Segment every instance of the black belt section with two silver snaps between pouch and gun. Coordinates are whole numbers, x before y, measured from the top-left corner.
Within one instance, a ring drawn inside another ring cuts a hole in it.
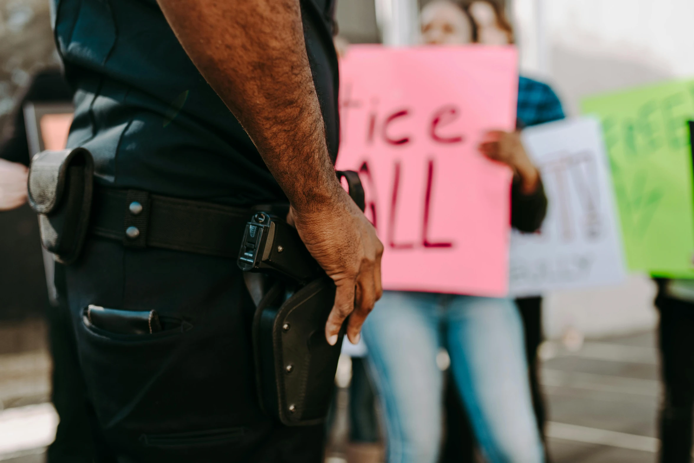
[[[130,248],[237,258],[253,214],[250,209],[94,186],[90,232]]]

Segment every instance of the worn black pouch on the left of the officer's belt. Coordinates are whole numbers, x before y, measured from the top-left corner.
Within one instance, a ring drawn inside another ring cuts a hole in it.
[[[41,242],[56,260],[71,264],[87,235],[94,160],[83,148],[42,151],[31,160],[29,204],[39,214]]]

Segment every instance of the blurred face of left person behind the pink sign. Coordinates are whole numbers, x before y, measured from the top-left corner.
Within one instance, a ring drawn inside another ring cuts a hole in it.
[[[448,0],[428,3],[422,9],[422,40],[425,44],[468,44],[473,27],[463,10]]]

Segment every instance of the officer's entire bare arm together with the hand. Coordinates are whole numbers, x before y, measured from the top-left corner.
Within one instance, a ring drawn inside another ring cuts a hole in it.
[[[299,236],[335,282],[326,339],[335,345],[347,323],[357,342],[382,294],[383,245],[335,177],[299,0],[157,1],[188,56],[255,143],[289,198]]]

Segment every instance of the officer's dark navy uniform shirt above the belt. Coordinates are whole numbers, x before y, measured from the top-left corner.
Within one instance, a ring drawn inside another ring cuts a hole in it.
[[[69,146],[97,181],[230,205],[284,198],[255,146],[176,40],[155,0],[53,0],[58,49],[76,87]],[[306,48],[337,155],[334,0],[302,0]]]

